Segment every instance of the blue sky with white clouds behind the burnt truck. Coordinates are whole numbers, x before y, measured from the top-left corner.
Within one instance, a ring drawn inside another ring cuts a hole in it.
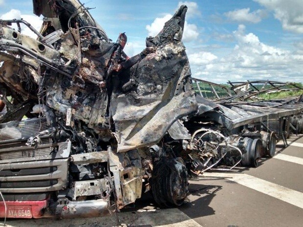
[[[188,6],[183,41],[193,77],[224,83],[303,83],[303,0],[82,0],[115,41],[126,32],[130,56],[145,47],[181,4]],[[18,11],[19,10],[19,11]],[[32,0],[0,0],[0,18],[32,16]]]

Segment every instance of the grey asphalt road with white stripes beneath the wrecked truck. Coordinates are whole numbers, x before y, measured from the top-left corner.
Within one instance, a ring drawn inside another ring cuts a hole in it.
[[[102,218],[8,220],[11,227],[301,227],[303,226],[303,136],[278,145],[258,168],[205,173],[191,181],[189,202],[159,209],[149,196],[118,215]],[[0,226],[3,226],[3,220]]]

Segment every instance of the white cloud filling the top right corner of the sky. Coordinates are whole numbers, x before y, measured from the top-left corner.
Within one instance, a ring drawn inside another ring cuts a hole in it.
[[[303,33],[303,0],[254,0],[274,12],[284,30]]]

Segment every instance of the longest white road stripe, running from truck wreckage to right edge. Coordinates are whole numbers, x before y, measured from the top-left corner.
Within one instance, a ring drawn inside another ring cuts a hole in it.
[[[227,178],[230,181],[234,181],[240,185],[252,188],[256,191],[272,196],[286,203],[292,204],[303,208],[303,193],[292,190],[287,187],[276,185],[274,183],[262,180],[257,177],[250,176],[245,173],[203,173],[204,178]]]

